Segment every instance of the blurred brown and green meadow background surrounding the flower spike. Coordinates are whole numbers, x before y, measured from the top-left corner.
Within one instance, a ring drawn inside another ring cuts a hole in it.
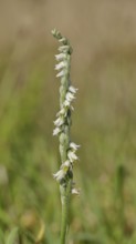
[[[136,2],[0,0],[0,243],[57,244],[57,28],[74,49],[69,244],[136,243]]]

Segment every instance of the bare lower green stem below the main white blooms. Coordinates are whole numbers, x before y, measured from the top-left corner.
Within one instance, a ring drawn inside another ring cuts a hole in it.
[[[62,200],[61,244],[65,244],[69,228],[70,197],[72,180],[69,180],[66,187],[60,186]]]

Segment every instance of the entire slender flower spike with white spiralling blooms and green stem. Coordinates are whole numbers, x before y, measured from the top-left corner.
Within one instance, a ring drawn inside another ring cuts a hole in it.
[[[62,230],[61,230],[61,244],[65,243],[66,230],[69,225],[69,205],[71,194],[79,194],[79,190],[74,187],[73,182],[73,165],[79,160],[76,151],[80,145],[71,141],[71,112],[74,110],[72,102],[75,99],[77,89],[71,84],[71,54],[72,48],[66,38],[55,29],[52,31],[54,38],[59,40],[59,54],[55,55],[57,64],[56,78],[60,78],[60,111],[56,113],[54,121],[55,129],[53,135],[59,136],[60,141],[60,155],[61,166],[56,173],[53,174],[54,179],[60,183],[61,202],[62,202]]]

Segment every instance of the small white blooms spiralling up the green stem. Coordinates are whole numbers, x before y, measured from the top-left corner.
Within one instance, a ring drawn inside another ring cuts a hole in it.
[[[62,43],[62,45],[59,48],[60,53],[55,55],[55,59],[59,62],[55,65],[55,70],[59,71],[56,78],[61,78],[61,81],[65,81],[66,79],[69,79],[70,73],[70,45],[67,44],[67,40],[65,38],[61,38],[59,41]],[[76,91],[77,89],[72,85],[67,85],[66,90],[64,89],[64,99],[61,103],[60,111],[56,113],[56,120],[54,121],[55,129],[53,130],[53,135],[60,135],[61,133],[64,133],[64,126],[67,121],[69,111],[73,110],[72,101],[75,99]],[[55,174],[53,174],[54,179],[56,179],[56,181],[59,181],[60,183],[65,181],[67,172],[72,172],[74,161],[79,160],[76,155],[76,150],[79,148],[80,145],[76,145],[74,142],[70,142],[66,153],[66,161],[63,162],[60,170]],[[73,187],[72,193],[79,194],[79,191]]]

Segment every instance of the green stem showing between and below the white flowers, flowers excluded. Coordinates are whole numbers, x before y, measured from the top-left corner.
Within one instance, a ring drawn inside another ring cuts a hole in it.
[[[67,73],[62,79],[61,92],[60,92],[60,108],[63,106],[66,91],[70,87],[70,62],[71,55],[67,54]],[[62,163],[67,160],[67,149],[70,144],[70,129],[71,129],[71,112],[69,110],[65,119],[64,132],[60,135],[60,154]],[[69,230],[69,212],[70,212],[70,197],[72,190],[72,180],[67,177],[65,184],[60,185],[61,202],[62,202],[62,220],[61,220],[61,244],[65,244],[66,234]]]

